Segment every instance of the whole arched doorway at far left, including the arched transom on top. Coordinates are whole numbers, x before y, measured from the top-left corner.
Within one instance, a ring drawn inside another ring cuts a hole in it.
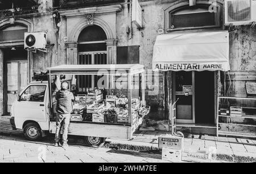
[[[11,24],[0,30],[0,44],[3,54],[3,114],[10,114],[16,95],[28,83],[27,51],[23,48],[24,32],[28,28],[22,24]]]

